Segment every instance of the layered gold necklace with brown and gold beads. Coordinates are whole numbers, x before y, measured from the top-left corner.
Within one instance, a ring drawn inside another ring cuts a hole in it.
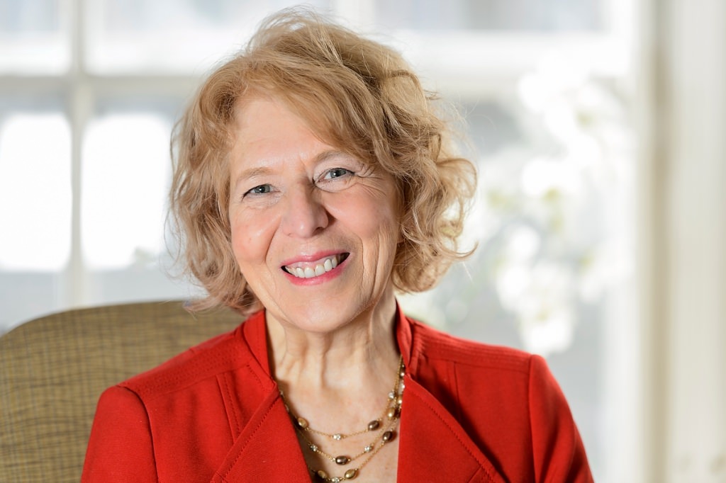
[[[343,476],[328,476],[328,474],[322,470],[322,469],[314,469],[308,466],[308,469],[311,471],[311,474],[323,482],[331,482],[331,483],[340,483],[343,482],[343,480],[346,479],[354,479],[356,476],[358,476],[359,471],[363,466],[365,466],[377,453],[380,451],[381,448],[383,448],[384,445],[386,445],[387,442],[390,442],[393,440],[393,438],[396,437],[396,426],[399,424],[399,417],[401,416],[401,403],[403,402],[403,395],[404,395],[404,373],[406,371],[406,368],[404,366],[403,358],[399,359],[399,371],[396,373],[396,384],[393,385],[393,390],[388,393],[388,400],[386,401],[386,409],[383,410],[383,413],[378,419],[374,419],[373,421],[370,421],[370,423],[367,424],[365,429],[361,429],[360,431],[352,432],[352,433],[326,433],[319,431],[317,429],[313,429],[310,427],[310,424],[305,418],[302,418],[300,416],[295,416],[293,412],[290,410],[290,406],[287,405],[287,401],[285,400],[285,395],[282,394],[282,389],[280,389],[280,395],[282,396],[283,402],[285,402],[285,409],[287,410],[287,413],[290,414],[290,418],[293,419],[293,426],[295,426],[295,429],[297,429],[298,434],[300,434],[301,438],[306,442],[306,447],[308,450],[311,451],[311,453],[314,453],[316,455],[319,455],[322,458],[325,458],[327,460],[333,461],[333,463],[338,464],[340,466],[346,466],[347,464],[356,461],[359,458],[362,458],[362,456],[367,455],[367,458],[364,458],[364,460],[361,461],[361,463],[356,466],[355,468],[349,468]],[[365,445],[363,449],[360,451],[360,453],[357,453],[353,456],[348,455],[338,455],[333,456],[330,453],[326,453],[324,450],[322,450],[318,445],[316,445],[314,442],[311,442],[309,437],[306,436],[306,433],[312,433],[317,434],[322,437],[326,437],[329,439],[332,439],[333,441],[337,442],[342,439],[346,439],[349,437],[358,436],[359,434],[365,434],[365,433],[375,433],[375,439],[373,439],[369,444]]]

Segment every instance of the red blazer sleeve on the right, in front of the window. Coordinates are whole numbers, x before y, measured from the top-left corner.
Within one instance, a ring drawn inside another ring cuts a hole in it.
[[[582,439],[570,408],[544,359],[533,355],[529,414],[537,482],[592,483]]]

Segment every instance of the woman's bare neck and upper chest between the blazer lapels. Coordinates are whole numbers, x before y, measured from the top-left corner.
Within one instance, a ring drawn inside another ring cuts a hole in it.
[[[336,321],[332,325],[335,329],[326,332],[305,331],[293,321],[281,321],[271,315],[266,313],[272,375],[285,395],[288,411],[295,418],[303,418],[306,427],[317,430],[315,434],[298,431],[306,463],[314,471],[342,476],[340,466],[320,457],[314,453],[316,450],[311,452],[310,445],[331,455],[357,458],[356,455],[363,454],[359,453],[362,447],[372,443],[370,433],[361,433],[371,421],[380,419],[380,424],[386,425],[378,430],[380,434],[375,438],[383,438],[383,432],[390,434],[396,430],[398,421],[386,417],[391,407],[388,393],[398,389],[396,381],[401,369],[393,327],[396,321],[393,289],[384,291],[375,307],[364,310],[352,321]],[[351,437],[333,442],[321,434]],[[359,466],[350,468],[365,466],[370,475],[367,477],[372,478],[366,481],[381,481],[384,476],[388,481],[396,474],[398,440],[393,439],[386,446],[393,449],[381,450],[375,464],[367,466],[367,461],[376,454],[371,453],[356,463]],[[345,470],[346,475],[353,471],[350,468]]]

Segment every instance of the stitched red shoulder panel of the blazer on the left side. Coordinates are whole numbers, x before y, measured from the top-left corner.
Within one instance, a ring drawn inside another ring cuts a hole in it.
[[[243,324],[242,324],[243,325]],[[242,337],[242,326],[195,345],[159,366],[123,381],[139,397],[168,394],[197,381],[233,371],[248,363],[251,351]]]

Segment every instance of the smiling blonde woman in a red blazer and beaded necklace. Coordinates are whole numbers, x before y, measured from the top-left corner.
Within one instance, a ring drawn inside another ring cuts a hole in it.
[[[399,54],[282,12],[176,136],[187,265],[247,320],[99,400],[86,482],[589,482],[541,358],[441,334],[395,293],[457,249],[475,174]]]

